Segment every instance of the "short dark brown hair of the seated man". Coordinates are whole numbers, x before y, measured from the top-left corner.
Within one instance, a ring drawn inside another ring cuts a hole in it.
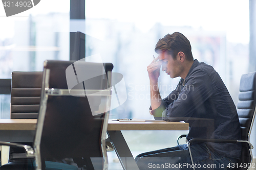
[[[155,52],[167,52],[169,55],[173,56],[174,60],[176,60],[176,56],[179,52],[183,52],[188,61],[194,60],[189,40],[179,32],[167,34],[159,39],[155,47]]]

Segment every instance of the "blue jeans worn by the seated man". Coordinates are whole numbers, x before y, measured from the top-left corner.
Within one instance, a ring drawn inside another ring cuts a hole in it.
[[[190,146],[194,165],[191,163],[187,144],[139,154],[135,161],[140,170],[144,169],[231,169],[235,158],[219,155],[209,150],[205,143]]]

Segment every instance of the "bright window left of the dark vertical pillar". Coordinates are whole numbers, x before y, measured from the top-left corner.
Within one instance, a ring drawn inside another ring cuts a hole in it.
[[[69,60],[69,0],[44,0],[6,17],[0,5],[0,79],[12,71],[42,71],[47,59]],[[0,95],[0,118],[10,118],[10,95]]]

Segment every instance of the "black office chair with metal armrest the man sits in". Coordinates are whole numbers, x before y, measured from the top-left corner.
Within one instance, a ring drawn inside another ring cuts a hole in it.
[[[244,74],[240,80],[240,92],[239,92],[239,102],[237,105],[237,112],[239,116],[239,122],[242,131],[241,140],[221,140],[221,139],[190,139],[188,141],[188,149],[191,158],[191,162],[194,164],[193,157],[190,151],[190,145],[195,142],[217,142],[217,143],[237,143],[242,142],[242,153],[241,161],[238,163],[238,168],[248,169],[249,165],[252,166],[252,144],[250,143],[250,134],[252,130],[252,125],[254,122],[256,110],[256,72],[250,72]],[[178,137],[182,138],[185,135]],[[241,164],[245,163],[245,164]],[[240,167],[240,165],[242,165]],[[246,165],[246,166],[245,166]]]

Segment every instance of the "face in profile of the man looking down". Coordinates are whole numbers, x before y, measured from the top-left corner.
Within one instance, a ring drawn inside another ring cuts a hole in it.
[[[182,66],[179,62],[179,56],[176,56],[174,60],[173,56],[166,51],[159,53],[159,61],[162,62],[162,70],[166,72],[170,78],[180,77],[182,72]]]

